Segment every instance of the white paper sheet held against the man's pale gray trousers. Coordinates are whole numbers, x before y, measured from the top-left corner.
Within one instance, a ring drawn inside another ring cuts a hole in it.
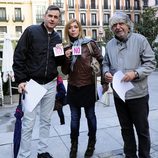
[[[26,91],[27,93],[25,93],[25,99],[23,100],[22,104],[25,110],[32,112],[47,90],[31,79],[26,84]]]

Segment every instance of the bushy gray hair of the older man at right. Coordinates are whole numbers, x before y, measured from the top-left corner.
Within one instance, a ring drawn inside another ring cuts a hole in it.
[[[109,28],[111,30],[112,26],[117,23],[125,23],[129,26],[129,29],[132,28],[132,22],[129,16],[123,12],[115,12],[113,16],[109,19]]]

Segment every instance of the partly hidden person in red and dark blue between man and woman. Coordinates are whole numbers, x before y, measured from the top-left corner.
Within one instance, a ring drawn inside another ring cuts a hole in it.
[[[66,105],[66,89],[63,84],[63,79],[60,75],[57,77],[57,86],[56,86],[56,96],[55,96],[55,106],[54,110],[57,110],[58,116],[60,118],[60,124],[65,124],[65,117],[63,112],[63,106]]]

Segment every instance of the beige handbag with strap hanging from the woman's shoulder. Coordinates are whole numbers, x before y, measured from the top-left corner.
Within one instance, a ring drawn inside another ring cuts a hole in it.
[[[94,51],[92,49],[92,46],[90,43],[87,44],[88,46],[88,49],[91,53],[91,55],[94,54]],[[96,76],[100,76],[101,75],[101,70],[100,70],[100,64],[98,62],[98,60],[92,56],[92,60],[91,60],[91,68],[93,69],[93,74],[96,75]]]

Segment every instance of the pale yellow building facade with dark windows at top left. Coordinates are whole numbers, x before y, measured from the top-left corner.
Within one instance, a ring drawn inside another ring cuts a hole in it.
[[[32,24],[32,9],[29,0],[0,0],[0,37],[9,33],[18,39],[24,29]]]

